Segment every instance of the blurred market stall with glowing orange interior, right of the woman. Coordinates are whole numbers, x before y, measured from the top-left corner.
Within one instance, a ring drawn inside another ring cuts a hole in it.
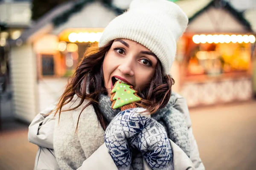
[[[244,15],[222,0],[177,4],[189,17],[172,70],[177,91],[190,107],[251,99],[255,35]]]

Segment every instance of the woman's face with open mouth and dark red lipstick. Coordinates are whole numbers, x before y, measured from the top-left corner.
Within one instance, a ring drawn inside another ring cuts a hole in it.
[[[123,81],[143,91],[155,73],[158,59],[148,48],[127,39],[116,39],[103,61],[105,88],[111,96],[116,81]],[[119,80],[116,80],[119,79]]]

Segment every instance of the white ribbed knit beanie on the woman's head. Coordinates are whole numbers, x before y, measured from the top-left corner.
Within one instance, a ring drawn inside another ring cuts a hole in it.
[[[125,13],[114,18],[103,31],[99,47],[124,38],[144,45],[160,60],[169,74],[176,55],[176,42],[188,24],[188,17],[168,0],[133,0]]]

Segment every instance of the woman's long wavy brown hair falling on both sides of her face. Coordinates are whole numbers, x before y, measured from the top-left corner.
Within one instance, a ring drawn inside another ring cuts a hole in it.
[[[65,91],[61,95],[55,108],[55,115],[59,113],[59,119],[63,106],[71,102],[76,94],[81,99],[79,105],[64,111],[75,110],[82,105],[84,100],[87,100],[88,103],[81,110],[79,118],[82,111],[84,111],[87,106],[93,105],[100,125],[104,130],[106,129],[108,122],[99,110],[99,95],[101,93],[105,95],[108,94],[104,85],[102,65],[105,54],[111,48],[112,43],[113,41],[103,47],[98,47],[98,43],[93,43],[87,48],[84,58],[77,66],[73,77],[71,77],[71,81],[66,85]],[[136,102],[136,104],[146,108],[150,114],[156,112],[160,108],[164,108],[170,99],[174,82],[174,79],[169,75],[163,74],[161,63],[158,62],[154,77],[145,85],[143,91],[138,91],[137,94],[142,97],[142,100]],[[89,91],[89,93],[87,93],[87,91]],[[79,119],[76,125],[76,130],[78,128],[78,123]]]

